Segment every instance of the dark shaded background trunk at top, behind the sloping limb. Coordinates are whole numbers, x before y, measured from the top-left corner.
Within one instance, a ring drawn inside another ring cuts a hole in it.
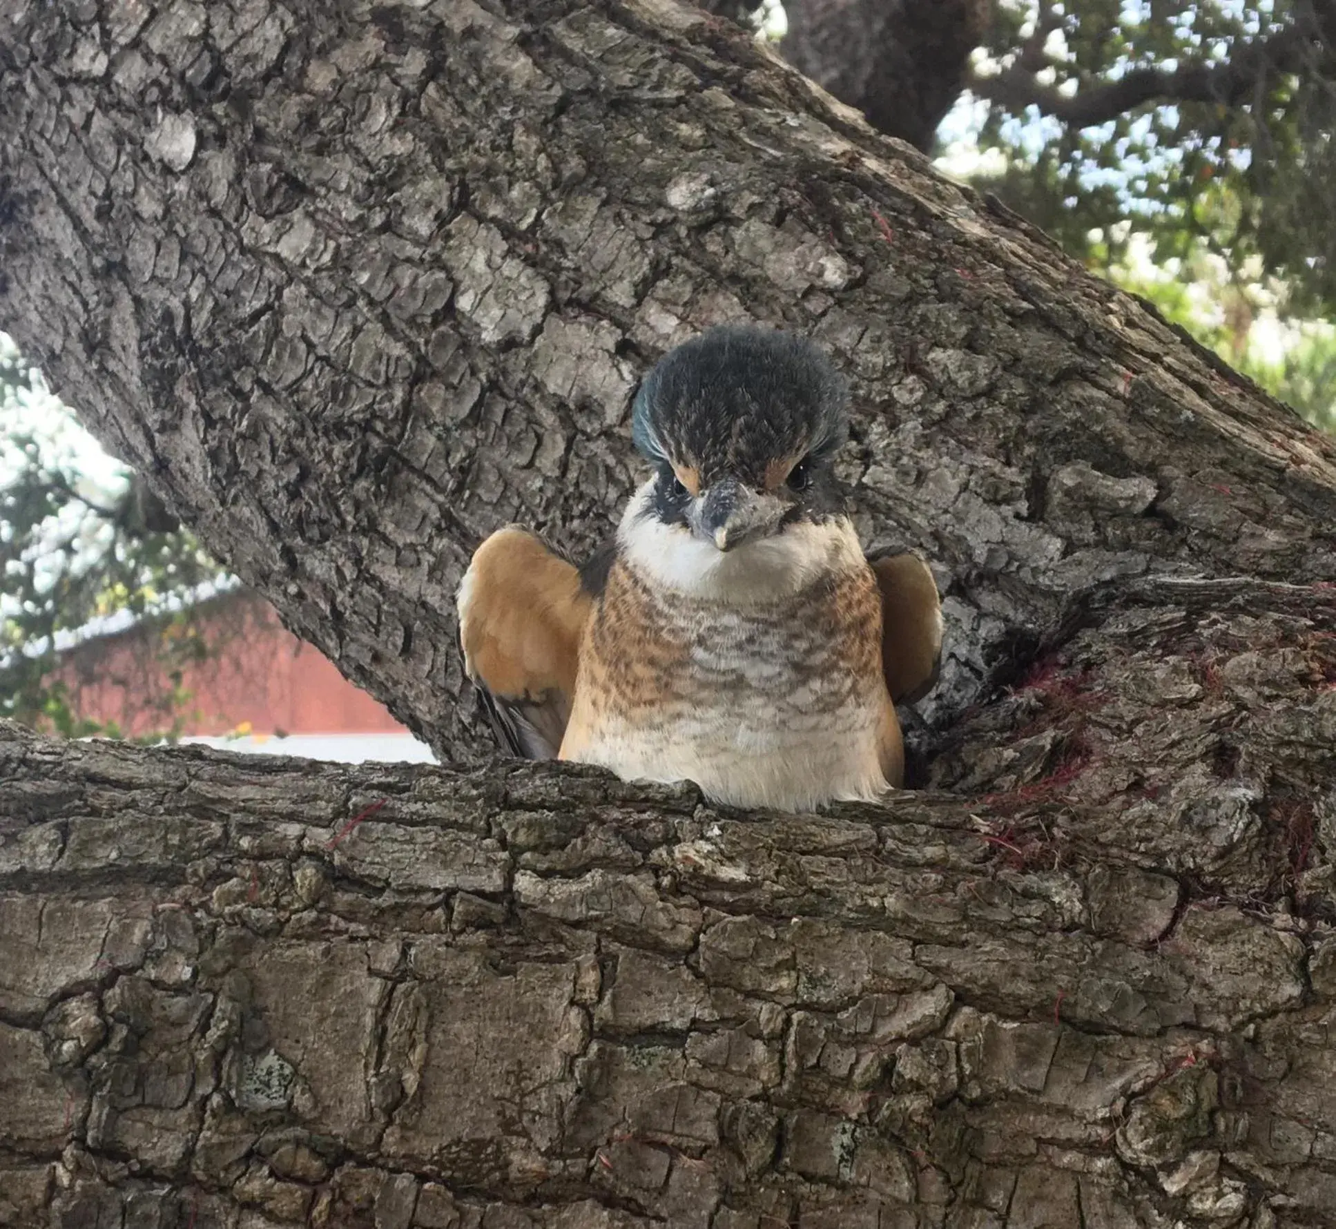
[[[784,59],[874,128],[930,150],[993,0],[787,0]]]

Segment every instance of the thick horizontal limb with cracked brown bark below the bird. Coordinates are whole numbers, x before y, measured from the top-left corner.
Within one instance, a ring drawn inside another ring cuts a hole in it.
[[[1333,795],[1296,791],[1289,828],[1252,811],[1263,775],[1329,747],[1336,693],[1291,649],[1214,657],[1259,609],[1315,665],[1336,651],[1297,613],[1312,590],[1132,601],[1121,639],[1078,648],[1121,655],[1121,683],[1077,660],[1015,700],[1086,713],[1086,785],[1136,737],[1169,776],[1130,811],[1043,783],[1051,729],[971,808],[802,818],[595,771],[0,724],[0,1217],[851,1226],[1010,1202],[1205,1225],[1272,1201],[1336,1224],[1315,1145],[1336,1054],[1308,1039],[1336,1018],[1336,940],[1259,912],[1287,858],[1283,891],[1329,891]],[[1208,631],[1232,601],[1249,613]],[[1210,721],[1241,756],[1194,781]]]

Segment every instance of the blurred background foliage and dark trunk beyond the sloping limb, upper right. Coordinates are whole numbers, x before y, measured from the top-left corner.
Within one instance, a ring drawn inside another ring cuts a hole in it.
[[[1336,429],[1336,0],[787,0],[784,25],[875,127]]]

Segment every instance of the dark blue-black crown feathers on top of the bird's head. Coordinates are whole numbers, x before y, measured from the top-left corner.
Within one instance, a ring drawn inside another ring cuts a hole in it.
[[[721,325],[645,377],[632,435],[649,461],[692,466],[705,484],[725,472],[760,481],[776,458],[834,453],[847,407],[843,377],[806,337]]]

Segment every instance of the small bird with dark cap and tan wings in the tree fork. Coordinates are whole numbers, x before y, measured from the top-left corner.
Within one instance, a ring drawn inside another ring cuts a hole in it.
[[[649,477],[576,565],[518,525],[457,593],[465,671],[506,748],[790,812],[902,788],[896,703],[937,681],[941,598],[868,557],[835,457],[848,385],[808,338],[708,329],[632,405]]]

